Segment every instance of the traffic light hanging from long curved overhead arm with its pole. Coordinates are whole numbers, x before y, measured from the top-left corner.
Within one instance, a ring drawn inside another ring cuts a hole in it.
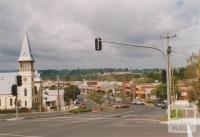
[[[167,38],[170,38],[169,36]],[[166,65],[166,77],[167,77],[167,103],[168,103],[168,120],[170,120],[170,86],[171,86],[171,69],[170,69],[170,54],[171,54],[171,47],[169,46],[169,44],[167,44],[167,51],[166,53],[164,51],[162,51],[159,48],[156,47],[152,47],[152,46],[144,46],[144,45],[138,45],[138,44],[130,44],[130,43],[122,43],[122,42],[113,42],[113,41],[107,41],[107,40],[102,40],[101,38],[96,38],[95,39],[95,49],[96,51],[100,51],[102,50],[102,42],[104,43],[111,43],[111,44],[117,44],[117,45],[125,45],[125,46],[131,46],[131,47],[138,47],[138,48],[146,48],[146,49],[152,49],[152,50],[156,50],[159,53],[161,53],[161,55],[164,58],[165,61],[165,65]]]

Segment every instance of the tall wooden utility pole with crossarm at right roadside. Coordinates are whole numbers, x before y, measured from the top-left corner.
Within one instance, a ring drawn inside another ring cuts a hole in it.
[[[166,61],[167,61],[167,103],[168,103],[168,120],[171,119],[171,103],[172,103],[172,69],[171,69],[171,46],[169,44],[170,39],[176,37],[176,35],[169,35],[167,32],[166,36],[160,36],[160,38],[164,38],[167,40],[167,53],[166,53]]]

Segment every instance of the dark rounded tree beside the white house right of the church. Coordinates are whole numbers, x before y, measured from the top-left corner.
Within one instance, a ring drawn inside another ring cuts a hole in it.
[[[77,96],[80,95],[80,89],[75,85],[70,85],[64,88],[64,101],[68,103],[70,99],[73,101],[77,99]]]

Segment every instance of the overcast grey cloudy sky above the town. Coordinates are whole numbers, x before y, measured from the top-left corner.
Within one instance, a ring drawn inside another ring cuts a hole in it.
[[[166,50],[172,64],[187,65],[200,49],[199,0],[0,0],[0,70],[17,69],[25,33],[36,69],[163,68],[153,50],[103,43],[94,39],[148,45]]]

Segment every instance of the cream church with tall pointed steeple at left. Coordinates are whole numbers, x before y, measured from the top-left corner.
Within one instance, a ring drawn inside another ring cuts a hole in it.
[[[0,73],[0,109],[15,109],[16,97],[11,95],[11,86],[16,84],[16,76],[22,76],[22,86],[18,87],[19,107],[42,107],[42,80],[34,68],[28,34],[25,35],[18,59],[19,72]]]

